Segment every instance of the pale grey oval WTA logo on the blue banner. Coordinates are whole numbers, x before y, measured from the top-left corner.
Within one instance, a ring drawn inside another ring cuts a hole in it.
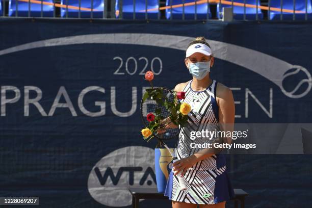
[[[156,188],[154,149],[127,146],[101,158],[88,178],[88,191],[107,206],[128,206],[132,196],[128,187]]]

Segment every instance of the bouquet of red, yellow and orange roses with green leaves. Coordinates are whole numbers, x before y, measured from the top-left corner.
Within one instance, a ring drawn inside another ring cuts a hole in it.
[[[188,119],[188,113],[191,111],[191,106],[185,102],[179,102],[178,100],[185,98],[185,92],[173,92],[174,98],[169,100],[166,95],[164,95],[163,88],[153,88],[152,80],[154,79],[154,74],[152,71],[147,71],[145,73],[145,80],[149,81],[151,88],[146,89],[143,95],[142,102],[147,98],[154,100],[158,106],[163,106],[169,112],[169,116],[164,118],[162,116],[162,111],[160,108],[156,108],[154,112],[147,113],[146,120],[148,125],[143,128],[141,133],[144,140],[149,141],[153,138],[153,135],[159,133],[159,131],[164,130],[165,126],[172,122],[174,125],[185,126]]]

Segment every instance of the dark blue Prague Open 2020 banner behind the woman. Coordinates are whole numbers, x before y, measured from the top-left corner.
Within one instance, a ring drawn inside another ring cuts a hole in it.
[[[216,57],[212,79],[232,89],[237,123],[311,122],[311,22],[0,24],[2,197],[36,196],[42,207],[123,207],[132,199],[126,187],[156,187],[155,141],[141,136],[144,73],[152,70],[153,84],[169,89],[191,80],[185,50],[197,36]],[[234,187],[250,194],[247,207],[307,206],[309,155],[229,160]]]

